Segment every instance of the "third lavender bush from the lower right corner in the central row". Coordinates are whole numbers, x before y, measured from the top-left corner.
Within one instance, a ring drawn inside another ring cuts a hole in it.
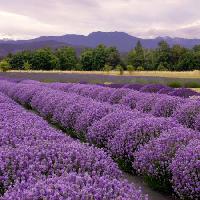
[[[166,118],[145,117],[129,120],[113,134],[113,138],[108,141],[108,147],[115,158],[133,161],[133,154],[139,146],[175,126],[176,123]]]

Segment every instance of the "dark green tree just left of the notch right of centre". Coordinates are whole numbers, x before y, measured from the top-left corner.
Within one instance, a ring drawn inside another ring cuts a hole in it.
[[[120,54],[116,47],[109,47],[106,49],[106,64],[115,67],[120,64]]]

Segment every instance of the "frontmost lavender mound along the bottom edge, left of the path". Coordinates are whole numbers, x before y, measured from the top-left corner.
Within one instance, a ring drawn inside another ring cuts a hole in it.
[[[140,189],[125,181],[109,179],[106,176],[69,173],[38,182],[32,180],[17,184],[2,200],[27,199],[95,199],[95,200],[148,200]]]

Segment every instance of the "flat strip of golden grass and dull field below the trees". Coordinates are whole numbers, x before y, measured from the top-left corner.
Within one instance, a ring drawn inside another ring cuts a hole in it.
[[[159,72],[135,71],[130,75],[125,72],[84,72],[84,71],[10,71],[0,72],[0,76],[21,79],[33,79],[43,82],[88,82],[88,83],[157,83],[172,87],[200,88],[200,72]]]

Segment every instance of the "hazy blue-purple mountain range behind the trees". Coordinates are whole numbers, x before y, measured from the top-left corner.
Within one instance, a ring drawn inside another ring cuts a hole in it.
[[[41,36],[30,40],[0,40],[0,57],[8,53],[16,53],[23,50],[35,50],[43,47],[52,49],[62,46],[72,46],[77,54],[84,48],[94,48],[99,44],[106,46],[115,46],[121,53],[126,53],[133,49],[140,40],[145,48],[156,48],[161,40],[168,42],[170,46],[179,44],[181,46],[192,48],[200,44],[200,39],[185,39],[171,37],[157,37],[154,39],[143,39],[131,36],[125,32],[93,32],[89,35],[67,34],[63,36]]]

